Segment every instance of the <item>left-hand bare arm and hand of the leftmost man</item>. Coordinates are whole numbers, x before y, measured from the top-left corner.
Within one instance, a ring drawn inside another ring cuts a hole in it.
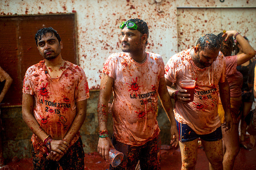
[[[37,136],[39,139],[44,141],[44,139],[48,136],[47,133],[42,130],[42,128],[37,123],[36,119],[33,115],[34,109],[34,96],[30,94],[23,93],[22,95],[22,118],[25,123],[28,125],[29,129]],[[63,140],[52,140],[50,143],[51,150],[56,151],[59,154],[63,155],[68,150],[68,144],[64,144]],[[50,148],[50,146],[47,146]],[[55,161],[55,160],[54,160]]]

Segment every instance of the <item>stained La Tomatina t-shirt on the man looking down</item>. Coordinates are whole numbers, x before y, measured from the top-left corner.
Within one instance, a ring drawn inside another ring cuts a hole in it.
[[[212,133],[220,127],[218,115],[219,82],[225,82],[226,63],[220,52],[211,66],[198,68],[187,49],[172,56],[165,65],[165,78],[181,89],[181,80],[196,80],[194,101],[188,104],[176,102],[175,119],[187,124],[197,134]]]

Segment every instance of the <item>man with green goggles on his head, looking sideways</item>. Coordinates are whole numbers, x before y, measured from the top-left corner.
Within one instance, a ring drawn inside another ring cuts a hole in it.
[[[171,122],[171,144],[178,145],[178,130],[165,84],[164,62],[159,54],[146,52],[148,27],[141,19],[129,19],[122,29],[122,53],[109,56],[103,67],[98,100],[100,139],[98,152],[106,160],[109,147],[124,154],[110,169],[160,169],[160,136],[156,120],[158,95]],[[108,137],[109,96],[114,92],[114,132]]]

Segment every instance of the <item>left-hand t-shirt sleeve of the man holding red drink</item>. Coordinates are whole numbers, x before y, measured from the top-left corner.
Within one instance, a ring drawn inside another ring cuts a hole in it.
[[[176,83],[178,70],[177,70],[177,64],[174,64],[173,59],[174,59],[173,57],[169,59],[169,61],[165,65],[165,78],[171,81],[172,83]]]

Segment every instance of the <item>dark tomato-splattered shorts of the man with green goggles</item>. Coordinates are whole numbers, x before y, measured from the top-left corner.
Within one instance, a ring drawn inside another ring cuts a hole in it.
[[[141,170],[160,170],[160,135],[141,146],[127,145],[118,142],[115,136],[112,137],[112,143],[117,151],[124,154],[124,159],[117,167],[109,166],[109,170],[134,170],[140,160]]]

